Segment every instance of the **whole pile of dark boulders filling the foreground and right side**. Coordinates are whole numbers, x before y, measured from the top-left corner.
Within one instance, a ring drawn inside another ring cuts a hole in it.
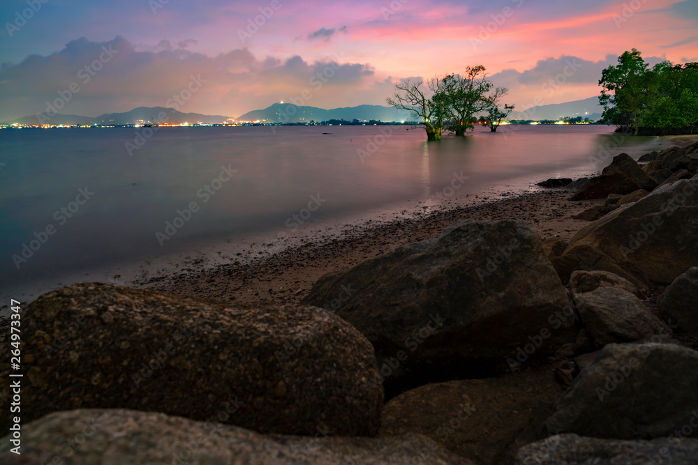
[[[299,305],[40,296],[1,463],[696,464],[698,144],[641,160],[547,183],[606,199],[569,243],[460,221]]]

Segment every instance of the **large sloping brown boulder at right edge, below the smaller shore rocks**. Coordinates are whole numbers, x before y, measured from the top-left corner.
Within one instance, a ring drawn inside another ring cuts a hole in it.
[[[557,261],[610,271],[638,287],[668,285],[698,264],[696,237],[698,176],[664,185],[581,228]]]

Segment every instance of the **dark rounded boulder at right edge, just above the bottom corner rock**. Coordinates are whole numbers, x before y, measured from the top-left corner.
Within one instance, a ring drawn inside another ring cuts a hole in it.
[[[652,439],[698,422],[698,351],[674,344],[609,344],[555,405],[551,433]],[[698,427],[685,436],[698,436]]]

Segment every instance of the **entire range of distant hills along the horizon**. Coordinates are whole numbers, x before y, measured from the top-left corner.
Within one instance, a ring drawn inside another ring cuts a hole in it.
[[[550,105],[538,105],[523,112],[512,112],[508,119],[559,119],[564,116],[582,116],[592,120],[600,119],[603,108],[600,107],[598,98],[591,97],[573,102],[555,103]],[[167,116],[161,119],[161,113]],[[130,112],[105,113],[95,118],[73,114],[43,114],[42,123],[59,125],[73,124],[134,124],[141,120],[154,123],[223,123],[230,120],[230,116],[206,115],[200,113],[182,113],[173,108],[165,107],[138,107]],[[274,103],[265,109],[257,109],[239,116],[237,121],[273,121],[276,123],[309,123],[310,121],[328,121],[330,119],[379,120],[379,121],[414,121],[415,117],[405,110],[380,105],[359,105],[357,107],[343,107],[324,109],[318,107],[297,106],[288,103]],[[38,124],[38,115],[24,116],[23,118],[6,121],[3,124]]]

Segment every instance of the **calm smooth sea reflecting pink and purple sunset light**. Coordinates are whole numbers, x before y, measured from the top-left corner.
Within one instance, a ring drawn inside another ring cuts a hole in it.
[[[671,144],[600,125],[477,128],[427,144],[407,128],[159,128],[138,141],[134,128],[0,130],[2,305],[96,270],[528,188]]]

